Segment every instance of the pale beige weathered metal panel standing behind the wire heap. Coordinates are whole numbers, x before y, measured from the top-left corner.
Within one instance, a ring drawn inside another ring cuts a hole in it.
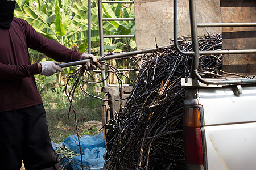
[[[220,23],[220,0],[195,0],[198,23]],[[137,49],[166,45],[174,37],[173,0],[135,0]],[[199,35],[221,33],[221,28],[199,28]],[[178,1],[178,36],[191,35],[188,0]]]

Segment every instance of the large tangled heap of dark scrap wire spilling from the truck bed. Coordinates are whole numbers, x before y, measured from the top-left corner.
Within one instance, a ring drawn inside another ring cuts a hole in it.
[[[179,47],[192,50],[190,37]],[[221,35],[199,39],[200,50],[221,50]],[[174,46],[144,56],[125,107],[113,118],[114,137],[106,141],[108,169],[179,169],[184,163],[183,101],[180,78],[189,76],[192,57]],[[221,76],[222,56],[200,56],[202,76]]]

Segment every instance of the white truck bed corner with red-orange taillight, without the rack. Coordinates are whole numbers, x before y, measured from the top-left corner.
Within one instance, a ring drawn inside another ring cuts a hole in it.
[[[256,169],[256,85],[188,88],[187,169]]]

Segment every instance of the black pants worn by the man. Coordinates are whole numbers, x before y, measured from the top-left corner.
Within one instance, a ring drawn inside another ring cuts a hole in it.
[[[43,104],[0,112],[0,169],[60,169]]]

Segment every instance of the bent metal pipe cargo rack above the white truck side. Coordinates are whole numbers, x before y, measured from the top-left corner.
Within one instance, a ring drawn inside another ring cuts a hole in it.
[[[177,40],[177,0],[174,0],[174,46],[177,52],[193,56],[191,76],[192,79],[197,79],[204,84],[216,84],[216,85],[229,85],[229,84],[247,84],[256,83],[256,79],[249,78],[237,78],[237,79],[205,79],[200,76],[197,69],[199,66],[199,56],[201,54],[249,54],[256,53],[256,49],[241,49],[241,50],[220,50],[220,51],[200,51],[198,44],[197,28],[199,27],[255,27],[256,23],[197,23],[196,20],[196,3],[195,0],[189,0],[189,15],[191,24],[191,38],[192,38],[192,51],[185,52],[178,46]]]

